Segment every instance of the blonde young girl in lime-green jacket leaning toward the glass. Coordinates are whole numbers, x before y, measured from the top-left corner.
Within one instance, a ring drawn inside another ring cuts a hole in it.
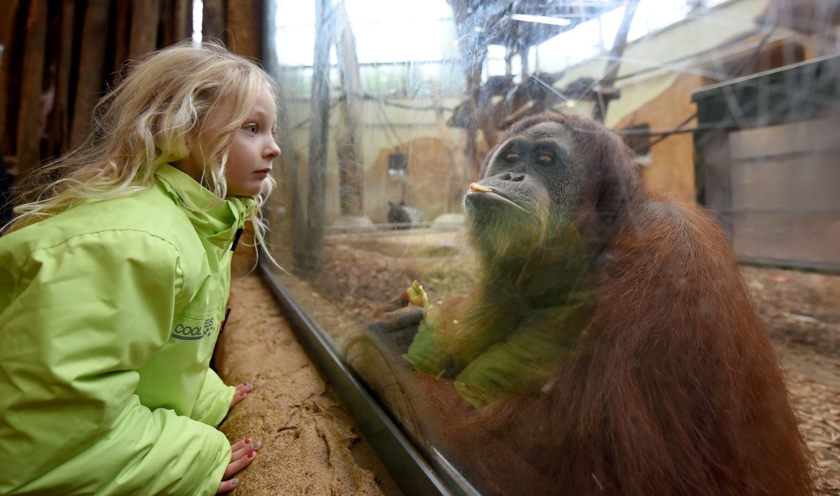
[[[252,386],[207,368],[243,223],[274,183],[269,77],[181,44],[98,103],[0,238],[0,493],[230,491]]]

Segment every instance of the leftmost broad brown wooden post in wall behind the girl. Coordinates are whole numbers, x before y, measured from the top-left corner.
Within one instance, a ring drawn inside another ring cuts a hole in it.
[[[32,0],[26,19],[24,71],[21,75],[18,114],[18,173],[25,173],[40,159],[41,87],[47,39],[47,2]]]

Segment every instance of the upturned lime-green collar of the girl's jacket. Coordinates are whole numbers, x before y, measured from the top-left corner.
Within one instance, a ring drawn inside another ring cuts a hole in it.
[[[243,227],[256,203],[249,196],[223,200],[170,164],[161,164],[155,176],[164,190],[185,206],[186,217],[198,234],[220,247],[233,241],[236,230]]]

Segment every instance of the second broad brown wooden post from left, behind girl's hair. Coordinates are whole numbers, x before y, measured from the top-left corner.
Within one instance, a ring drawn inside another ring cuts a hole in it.
[[[85,24],[81,30],[79,79],[73,105],[70,148],[74,149],[87,134],[91,113],[105,84],[105,44],[108,43],[110,2],[88,2]]]

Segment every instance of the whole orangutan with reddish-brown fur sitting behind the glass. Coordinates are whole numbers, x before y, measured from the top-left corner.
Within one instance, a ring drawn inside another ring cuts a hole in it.
[[[410,343],[396,351],[424,436],[470,482],[811,494],[780,364],[706,212],[645,191],[621,139],[581,117],[515,123],[481,176],[465,196],[475,289],[372,327]]]

